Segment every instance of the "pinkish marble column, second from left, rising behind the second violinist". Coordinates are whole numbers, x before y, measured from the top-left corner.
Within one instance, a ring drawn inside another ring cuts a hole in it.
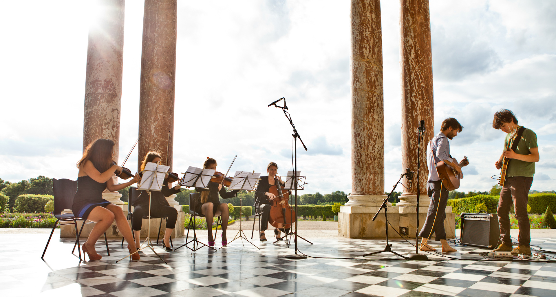
[[[145,0],[141,90],[139,95],[139,166],[148,151],[162,153],[172,166],[176,87],[177,0]],[[171,169],[170,169],[171,170]]]

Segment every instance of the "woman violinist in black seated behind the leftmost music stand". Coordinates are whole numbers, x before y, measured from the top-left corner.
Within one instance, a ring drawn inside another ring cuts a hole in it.
[[[145,170],[145,166],[149,162],[157,163],[162,159],[162,154],[156,151],[147,152],[143,162],[141,163],[141,171]],[[177,210],[168,204],[166,197],[180,192],[179,185],[172,187],[171,183],[168,182],[168,178],[165,177],[162,182],[162,191],[152,191],[151,192],[151,215],[157,217],[166,217],[166,231],[164,232],[164,239],[162,240],[163,246],[167,251],[172,251],[170,247],[170,236],[172,231],[176,226],[177,220]],[[135,245],[137,248],[140,246],[140,235],[141,235],[141,224],[143,222],[143,217],[148,216],[148,193],[142,190],[141,194],[136,200],[131,201],[133,208],[132,217],[132,227],[133,234],[135,235]]]

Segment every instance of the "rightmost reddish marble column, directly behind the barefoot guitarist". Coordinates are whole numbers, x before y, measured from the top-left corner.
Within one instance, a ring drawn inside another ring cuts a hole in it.
[[[419,206],[427,206],[426,181],[429,171],[426,167],[427,143],[434,136],[433,109],[433,57],[430,40],[430,17],[428,0],[401,0],[401,169],[417,172],[417,149],[419,121],[425,121],[425,137],[421,141],[420,152],[420,195]],[[417,202],[416,176],[410,186],[405,186],[400,202],[404,206],[400,212],[415,212]],[[409,206],[409,207],[408,207]],[[411,211],[413,209],[413,211]],[[426,211],[423,208],[423,211]],[[421,211],[421,208],[419,209]]]

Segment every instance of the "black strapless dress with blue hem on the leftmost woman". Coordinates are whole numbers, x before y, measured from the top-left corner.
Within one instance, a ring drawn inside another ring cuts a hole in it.
[[[91,211],[97,206],[107,206],[110,201],[102,199],[102,192],[106,189],[106,182],[100,183],[90,176],[77,177],[77,192],[73,197],[71,207],[73,215],[87,219]]]

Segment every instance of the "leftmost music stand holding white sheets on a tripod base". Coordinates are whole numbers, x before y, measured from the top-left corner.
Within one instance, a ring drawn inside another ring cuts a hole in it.
[[[153,164],[153,165],[151,165]],[[149,167],[153,167],[152,169],[149,169]],[[170,169],[170,166],[163,166],[160,165],[160,161],[158,161],[156,164],[152,163],[152,162],[148,162],[147,166],[145,166],[145,174],[143,174],[143,176],[141,177],[141,181],[145,181],[143,183],[139,183],[137,185],[137,189],[139,190],[145,190],[148,193],[148,216],[147,216],[147,220],[148,220],[148,229],[147,229],[147,238],[143,241],[143,243],[141,245],[144,245],[146,243],[145,246],[140,246],[135,252],[131,253],[128,256],[123,257],[122,259],[118,260],[121,261],[123,259],[126,259],[127,257],[131,257],[131,255],[135,254],[135,253],[139,253],[140,250],[145,249],[145,248],[150,248],[152,250],[152,253],[155,253],[155,255],[158,257],[158,259],[162,260],[164,263],[168,264],[164,259],[161,258],[160,255],[158,255],[158,253],[156,253],[155,249],[153,248],[152,242],[151,242],[151,191],[161,191],[164,182],[164,175],[166,175],[166,172],[168,171],[168,169]],[[147,172],[149,174],[147,174]],[[159,174],[162,174],[161,179],[158,178]],[[145,184],[148,184],[147,187],[143,187]],[[116,263],[118,263],[118,261],[116,261]]]

